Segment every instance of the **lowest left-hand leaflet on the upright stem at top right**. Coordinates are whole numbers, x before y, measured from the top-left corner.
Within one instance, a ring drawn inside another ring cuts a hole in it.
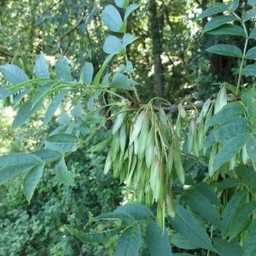
[[[231,44],[216,44],[207,48],[207,51],[217,55],[227,55],[242,58],[241,49]]]

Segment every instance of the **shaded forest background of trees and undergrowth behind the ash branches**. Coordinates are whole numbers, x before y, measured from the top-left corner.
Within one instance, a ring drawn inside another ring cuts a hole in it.
[[[204,101],[216,93],[220,82],[236,84],[239,63],[226,56],[207,54],[205,49],[217,43],[239,46],[239,40],[203,35],[207,20],[195,21],[201,9],[212,2],[216,1],[136,2],[140,8],[132,15],[128,32],[136,35],[137,41],[128,49],[128,55],[143,102],[161,96],[173,104],[189,104]],[[99,69],[105,58],[102,45],[108,36],[100,16],[108,3],[112,1],[1,0],[0,65],[13,63],[32,78],[33,61],[43,51],[52,68],[56,60],[66,56],[75,79],[79,79],[75,71],[79,71],[85,61]],[[0,83],[3,84],[1,77]],[[37,127],[42,125],[38,121],[41,113],[34,117],[37,121],[25,129],[10,133],[9,125],[15,114],[9,108],[10,102],[12,98],[1,105],[0,154],[42,147],[44,131],[37,132]],[[64,102],[63,109],[65,104],[68,102]],[[56,113],[49,131],[65,118]],[[102,141],[107,133],[97,135],[90,145],[67,159],[75,177],[74,187],[58,183],[50,168],[44,172],[30,205],[19,179],[0,187],[0,255],[113,254],[114,239],[100,246],[82,244],[65,229],[66,225],[83,229],[89,211],[97,215],[133,200],[131,191],[125,190],[123,184],[111,174],[102,174],[108,148],[90,153],[91,145]]]

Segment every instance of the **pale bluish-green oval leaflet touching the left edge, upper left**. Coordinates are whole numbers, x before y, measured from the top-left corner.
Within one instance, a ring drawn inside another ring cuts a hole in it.
[[[9,81],[12,84],[20,84],[28,80],[28,76],[20,67],[17,67],[13,64],[6,64],[1,66],[3,78]]]

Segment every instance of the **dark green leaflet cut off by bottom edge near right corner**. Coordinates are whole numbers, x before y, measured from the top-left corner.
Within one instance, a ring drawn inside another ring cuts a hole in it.
[[[233,241],[226,241],[220,238],[213,238],[213,245],[217,249],[219,256],[241,256],[241,247]]]

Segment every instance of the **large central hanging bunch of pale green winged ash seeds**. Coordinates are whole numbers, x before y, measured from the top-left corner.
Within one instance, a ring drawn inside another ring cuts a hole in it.
[[[177,132],[162,108],[152,102],[137,113],[123,109],[113,125],[112,146],[104,173],[113,174],[133,189],[137,201],[151,207],[157,203],[157,219],[164,226],[166,212],[174,217],[172,181],[184,183]]]

